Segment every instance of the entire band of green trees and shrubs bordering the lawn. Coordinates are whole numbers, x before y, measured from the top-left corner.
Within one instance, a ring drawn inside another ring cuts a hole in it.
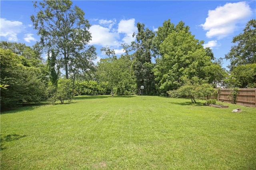
[[[103,47],[106,58],[94,65],[96,48],[87,45],[90,24],[79,7],[57,0],[34,7],[39,11],[31,20],[40,42],[32,47],[1,42],[1,109],[46,100],[63,103],[75,95],[134,95],[141,85],[145,95],[192,101],[210,96],[221,83],[256,87],[256,20],[233,38],[236,45],[225,56],[231,61],[229,72],[184,22],[170,20],[156,32],[137,23],[136,40],[122,44],[124,55],[118,58],[114,49]]]

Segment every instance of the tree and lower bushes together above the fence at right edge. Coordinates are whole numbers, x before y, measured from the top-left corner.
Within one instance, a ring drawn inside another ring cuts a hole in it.
[[[230,75],[226,79],[229,87],[256,87],[256,20],[252,19],[244,32],[233,38],[230,52]]]

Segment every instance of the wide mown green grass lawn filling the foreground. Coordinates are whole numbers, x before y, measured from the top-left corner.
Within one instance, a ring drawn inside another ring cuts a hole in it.
[[[3,112],[0,168],[255,169],[256,108],[224,105],[79,96]]]

